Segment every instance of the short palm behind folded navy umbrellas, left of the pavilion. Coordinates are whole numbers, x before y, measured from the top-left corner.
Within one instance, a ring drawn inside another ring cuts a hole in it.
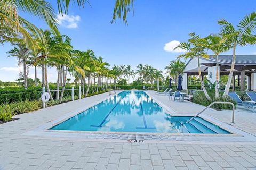
[[[178,60],[173,60],[168,66],[165,67],[166,73],[169,73],[171,77],[174,78],[174,88],[176,88],[176,83],[178,81],[178,76],[183,74],[185,69],[185,63]]]

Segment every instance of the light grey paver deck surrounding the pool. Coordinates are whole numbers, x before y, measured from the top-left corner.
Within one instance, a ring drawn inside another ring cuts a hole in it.
[[[188,101],[168,101],[147,91],[172,114],[198,113],[204,106]],[[256,169],[256,142],[184,141],[120,142],[77,140],[72,137],[24,135],[74,111],[99,103],[109,93],[91,96],[33,113],[14,116],[0,124],[0,169]],[[203,116],[230,124],[231,111],[207,110]],[[238,108],[236,128],[256,134],[256,114]],[[189,137],[183,137],[189,138]]]

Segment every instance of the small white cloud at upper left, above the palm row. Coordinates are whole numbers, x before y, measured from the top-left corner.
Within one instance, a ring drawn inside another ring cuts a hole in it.
[[[78,27],[78,22],[80,21],[80,16],[79,15],[59,15],[58,14],[58,23],[62,25],[63,27],[66,28],[77,28]]]

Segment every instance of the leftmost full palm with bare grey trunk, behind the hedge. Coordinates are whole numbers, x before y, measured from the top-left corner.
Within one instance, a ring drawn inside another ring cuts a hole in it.
[[[25,46],[25,43],[18,43],[14,44],[14,48],[9,50],[7,53],[9,57],[17,57],[18,59],[18,66],[23,64],[23,79],[24,79],[24,88],[27,89],[27,59],[29,57],[29,49]]]

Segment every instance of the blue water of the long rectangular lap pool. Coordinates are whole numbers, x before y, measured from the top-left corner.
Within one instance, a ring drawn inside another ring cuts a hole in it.
[[[161,133],[229,133],[196,117],[171,116],[143,91],[123,91],[100,104],[53,126],[52,130],[161,132]]]

